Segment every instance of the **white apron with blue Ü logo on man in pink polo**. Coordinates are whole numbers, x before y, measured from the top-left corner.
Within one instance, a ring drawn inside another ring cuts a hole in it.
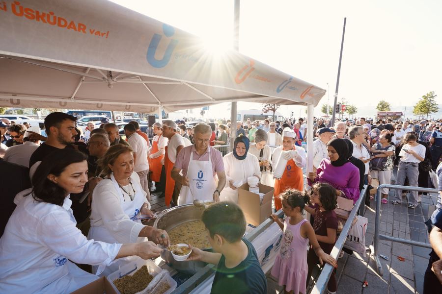
[[[213,193],[217,189],[217,184],[213,176],[212,158],[209,161],[193,161],[193,153],[189,160],[187,177],[189,178],[189,187],[182,186],[180,196],[178,197],[178,206],[193,203],[194,199],[213,201]]]

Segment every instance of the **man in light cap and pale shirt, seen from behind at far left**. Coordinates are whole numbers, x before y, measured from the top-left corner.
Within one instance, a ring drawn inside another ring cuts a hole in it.
[[[29,159],[34,151],[40,146],[40,140],[29,139],[29,135],[34,132],[40,135],[38,126],[31,126],[23,136],[23,144],[9,147],[4,154],[3,160],[29,167]]]

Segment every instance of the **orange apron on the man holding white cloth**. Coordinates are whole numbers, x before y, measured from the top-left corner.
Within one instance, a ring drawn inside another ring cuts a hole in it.
[[[293,147],[293,150],[296,150],[296,146]],[[274,196],[276,211],[282,208],[282,201],[279,195],[288,189],[304,190],[303,170],[295,164],[293,158],[287,161],[281,179],[275,179]]]

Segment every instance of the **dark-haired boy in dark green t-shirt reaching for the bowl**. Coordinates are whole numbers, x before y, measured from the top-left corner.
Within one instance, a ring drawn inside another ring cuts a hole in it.
[[[233,202],[222,201],[206,208],[201,216],[209,231],[209,242],[217,253],[189,245],[187,259],[217,265],[212,294],[266,294],[267,279],[253,245],[245,238],[246,218]]]

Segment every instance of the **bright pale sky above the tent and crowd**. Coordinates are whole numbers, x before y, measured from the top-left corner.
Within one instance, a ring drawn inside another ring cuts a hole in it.
[[[217,46],[233,44],[234,0],[112,1]],[[442,104],[441,12],[440,0],[242,0],[239,50],[328,90],[315,109],[320,115],[335,93],[346,17],[338,100],[356,105],[359,117],[374,116],[383,99],[411,117],[413,105],[430,91]],[[262,107],[239,102],[238,108]],[[304,108],[281,106],[280,112],[305,116]],[[226,105],[212,109],[225,111]]]

